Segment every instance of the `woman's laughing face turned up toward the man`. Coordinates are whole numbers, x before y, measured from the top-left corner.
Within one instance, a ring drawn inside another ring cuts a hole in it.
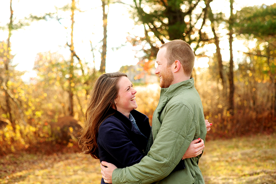
[[[137,91],[132,88],[132,83],[125,76],[121,77],[117,85],[119,87],[118,97],[115,99],[117,111],[128,117],[130,111],[138,107],[135,100]]]

